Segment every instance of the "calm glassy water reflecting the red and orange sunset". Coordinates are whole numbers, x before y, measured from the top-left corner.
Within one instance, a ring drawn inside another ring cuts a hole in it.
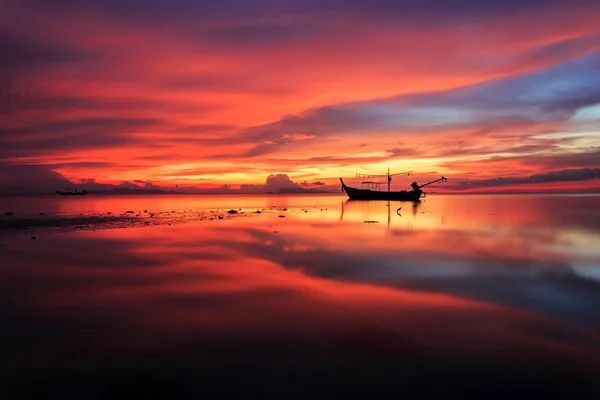
[[[0,229],[230,208],[0,236],[0,396],[600,398],[599,196],[4,196]]]

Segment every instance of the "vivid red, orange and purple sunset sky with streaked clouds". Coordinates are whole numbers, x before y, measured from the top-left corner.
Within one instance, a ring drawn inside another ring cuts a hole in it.
[[[0,191],[339,191],[388,167],[600,191],[598,21],[596,0],[1,0]]]

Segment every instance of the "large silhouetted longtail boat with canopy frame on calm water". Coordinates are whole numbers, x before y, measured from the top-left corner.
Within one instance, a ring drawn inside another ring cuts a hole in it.
[[[347,186],[344,183],[344,180],[342,178],[340,178],[340,182],[342,182],[342,191],[346,192],[346,194],[348,195],[348,198],[350,200],[420,201],[421,197],[424,196],[424,194],[425,194],[423,192],[423,190],[421,190],[422,188],[424,188],[427,185],[436,183],[436,182],[440,182],[440,181],[445,182],[447,180],[445,177],[442,176],[440,179],[436,179],[434,181],[425,183],[423,185],[419,185],[417,182],[413,182],[410,185],[412,190],[401,190],[401,191],[393,192],[390,190],[390,184],[392,182],[392,176],[396,176],[396,175],[412,175],[412,171],[400,172],[397,174],[390,174],[390,171],[388,169],[388,173],[386,175],[356,174],[356,176],[359,178],[374,178],[374,177],[379,177],[379,176],[387,176],[387,184],[388,184],[387,192],[383,191],[383,190],[373,190],[372,189],[374,186],[379,187],[379,185],[381,184],[380,182],[372,182],[372,181],[363,182],[362,184],[367,185],[369,187],[369,189],[363,189],[362,187],[360,189],[358,189],[358,188]]]

